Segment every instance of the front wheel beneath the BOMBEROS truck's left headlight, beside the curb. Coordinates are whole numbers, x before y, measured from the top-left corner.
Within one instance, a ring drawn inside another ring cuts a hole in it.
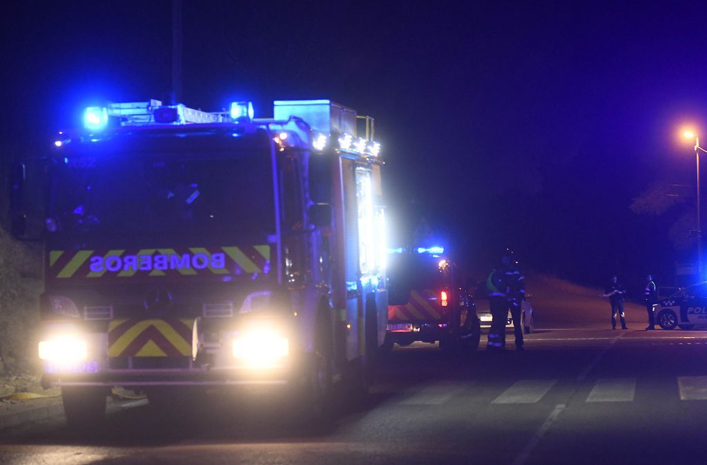
[[[107,389],[103,387],[67,386],[62,388],[64,415],[69,426],[90,429],[105,419]]]

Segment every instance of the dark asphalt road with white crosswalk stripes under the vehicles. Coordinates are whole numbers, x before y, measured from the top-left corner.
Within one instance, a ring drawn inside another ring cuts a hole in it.
[[[396,347],[326,430],[264,396],[194,398],[178,419],[126,401],[90,435],[5,430],[0,464],[707,464],[707,331],[547,328],[525,352],[509,336],[468,359]]]

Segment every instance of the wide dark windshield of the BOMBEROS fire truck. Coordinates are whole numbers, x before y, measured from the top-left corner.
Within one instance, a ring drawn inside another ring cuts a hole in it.
[[[274,234],[267,151],[69,156],[49,188],[54,246],[264,243]]]

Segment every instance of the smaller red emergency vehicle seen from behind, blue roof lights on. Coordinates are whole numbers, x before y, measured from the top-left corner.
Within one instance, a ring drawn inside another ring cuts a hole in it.
[[[481,326],[457,264],[444,248],[390,250],[389,306],[385,348],[395,343],[438,342],[448,353],[476,350]]]

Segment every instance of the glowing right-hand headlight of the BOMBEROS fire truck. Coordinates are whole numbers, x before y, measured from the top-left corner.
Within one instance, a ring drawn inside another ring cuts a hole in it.
[[[253,328],[233,339],[233,357],[255,369],[280,366],[289,350],[288,339],[272,329]]]

